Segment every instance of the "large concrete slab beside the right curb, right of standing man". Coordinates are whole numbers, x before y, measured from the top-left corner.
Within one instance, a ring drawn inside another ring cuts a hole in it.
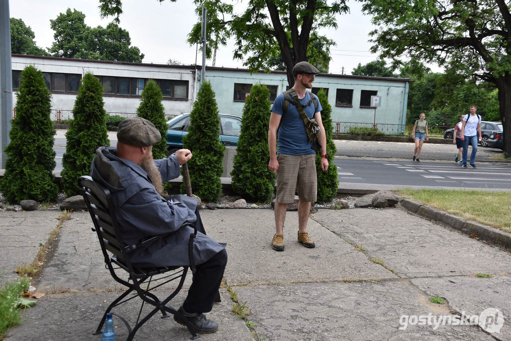
[[[314,220],[399,277],[511,272],[511,255],[399,208],[319,210]]]

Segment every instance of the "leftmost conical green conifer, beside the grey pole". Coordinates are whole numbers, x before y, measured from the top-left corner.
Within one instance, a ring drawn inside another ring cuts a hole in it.
[[[23,199],[52,201],[58,186],[52,174],[55,129],[50,119],[51,95],[34,66],[21,72],[16,97],[16,119],[12,120],[11,142],[5,149],[7,162],[0,190],[13,203]]]

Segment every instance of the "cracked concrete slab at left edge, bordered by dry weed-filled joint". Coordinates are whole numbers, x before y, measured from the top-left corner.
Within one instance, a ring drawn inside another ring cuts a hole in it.
[[[0,212],[0,285],[18,275],[18,265],[31,264],[50,237],[60,211]]]

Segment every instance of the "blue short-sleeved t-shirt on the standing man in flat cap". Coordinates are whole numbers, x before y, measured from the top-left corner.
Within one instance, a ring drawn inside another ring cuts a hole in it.
[[[306,105],[311,100],[311,96],[316,96],[309,92],[305,97],[300,99],[300,103]],[[317,97],[316,97],[317,98]],[[271,111],[282,115],[282,107],[284,104],[284,94],[277,96],[271,107]],[[312,119],[316,112],[323,110],[318,100],[318,107],[314,108],[314,102],[311,102],[304,108],[308,118]],[[314,154],[311,149],[311,142],[307,138],[305,132],[304,121],[301,119],[298,110],[294,104],[289,103],[286,113],[281,118],[281,127],[278,129],[277,137],[277,154],[286,155],[306,155]]]

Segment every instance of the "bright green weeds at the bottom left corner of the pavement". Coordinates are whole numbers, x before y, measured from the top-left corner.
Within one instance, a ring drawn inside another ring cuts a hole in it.
[[[9,329],[21,320],[18,302],[21,294],[28,291],[30,278],[19,277],[15,282],[7,282],[0,289],[0,340],[3,340]]]

